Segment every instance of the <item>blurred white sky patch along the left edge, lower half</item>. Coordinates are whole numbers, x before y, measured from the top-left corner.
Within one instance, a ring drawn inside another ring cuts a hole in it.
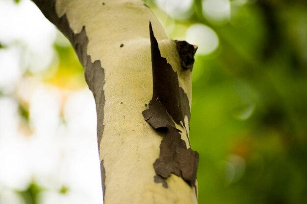
[[[25,140],[18,133],[17,110],[14,99],[0,98],[0,187],[8,189],[24,189],[31,180]]]

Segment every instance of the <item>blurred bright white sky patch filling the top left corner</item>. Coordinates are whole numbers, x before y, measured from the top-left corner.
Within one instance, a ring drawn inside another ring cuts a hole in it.
[[[48,67],[54,55],[56,29],[33,2],[0,0],[0,27],[2,44],[17,43],[27,50],[22,57],[24,67],[34,73]]]

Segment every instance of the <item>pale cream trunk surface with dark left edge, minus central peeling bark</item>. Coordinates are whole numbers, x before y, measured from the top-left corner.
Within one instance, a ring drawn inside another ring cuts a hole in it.
[[[197,204],[196,186],[172,174],[154,182],[163,133],[142,115],[153,97],[149,22],[161,56],[178,75],[191,104],[191,71],[176,43],[141,0],[33,0],[70,40],[85,68],[98,116],[105,204]],[[172,94],[172,93],[170,93]],[[183,125],[184,124],[184,125]],[[188,140],[188,116],[176,124]]]

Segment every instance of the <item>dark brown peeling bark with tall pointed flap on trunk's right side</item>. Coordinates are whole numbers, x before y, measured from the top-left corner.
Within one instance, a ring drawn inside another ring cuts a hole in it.
[[[143,116],[155,130],[165,134],[160,144],[160,156],[153,167],[159,177],[166,179],[175,174],[189,185],[195,185],[199,154],[187,149],[174,123],[180,124],[181,121],[184,125],[184,117],[190,116],[189,100],[179,87],[178,74],[161,56],[151,23],[150,39],[153,98],[149,102],[149,109],[143,111]],[[159,181],[157,178],[155,182]]]

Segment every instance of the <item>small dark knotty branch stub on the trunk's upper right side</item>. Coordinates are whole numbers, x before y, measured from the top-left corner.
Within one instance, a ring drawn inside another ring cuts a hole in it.
[[[196,45],[191,45],[186,41],[175,40],[177,51],[180,57],[180,64],[184,70],[192,71],[195,62],[194,55],[197,50]]]

